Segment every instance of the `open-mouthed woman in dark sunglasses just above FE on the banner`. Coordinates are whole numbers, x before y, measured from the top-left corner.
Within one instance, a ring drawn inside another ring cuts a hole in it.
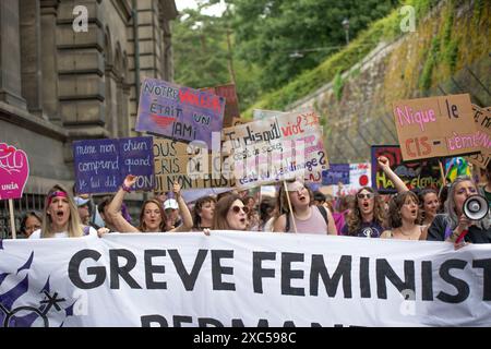
[[[237,194],[223,196],[215,206],[213,230],[247,230],[249,207]],[[205,233],[208,233],[205,230]]]

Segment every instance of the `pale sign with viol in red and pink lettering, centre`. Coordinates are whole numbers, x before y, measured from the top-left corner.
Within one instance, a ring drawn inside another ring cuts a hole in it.
[[[290,112],[224,129],[224,153],[230,152],[238,188],[303,178],[321,182],[328,168],[319,117]]]

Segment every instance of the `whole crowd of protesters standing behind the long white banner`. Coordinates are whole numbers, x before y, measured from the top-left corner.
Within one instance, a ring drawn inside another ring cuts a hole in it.
[[[312,192],[300,180],[289,180],[278,184],[276,197],[230,191],[187,203],[180,185],[175,183],[171,193],[156,193],[143,203],[136,224],[123,203],[125,193],[136,182],[135,176],[128,176],[115,195],[103,197],[97,205],[89,195],[72,195],[62,185],[55,185],[47,194],[43,213],[32,210],[22,218],[21,231],[31,239],[240,230],[450,241],[456,249],[467,243],[491,243],[489,210],[479,220],[464,213],[469,196],[482,195],[491,201],[491,165],[484,184],[457,177],[439,191],[414,192],[391,169],[387,158],[382,156],[378,163],[394,183],[396,194],[381,195],[373,188],[363,186],[355,195],[333,197]]]

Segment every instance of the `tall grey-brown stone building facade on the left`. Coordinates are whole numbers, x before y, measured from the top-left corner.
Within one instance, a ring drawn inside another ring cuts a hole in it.
[[[172,81],[177,14],[173,0],[0,1],[0,143],[31,169],[17,212],[72,188],[73,141],[136,135],[140,81]]]

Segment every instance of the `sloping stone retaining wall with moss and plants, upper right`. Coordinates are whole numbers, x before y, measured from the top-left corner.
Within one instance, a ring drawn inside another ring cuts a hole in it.
[[[391,111],[397,99],[469,93],[490,106],[490,8],[476,7],[442,1],[415,33],[380,43],[336,82],[288,109],[314,107],[325,122],[330,161],[358,163],[370,160],[371,145],[398,144]]]

